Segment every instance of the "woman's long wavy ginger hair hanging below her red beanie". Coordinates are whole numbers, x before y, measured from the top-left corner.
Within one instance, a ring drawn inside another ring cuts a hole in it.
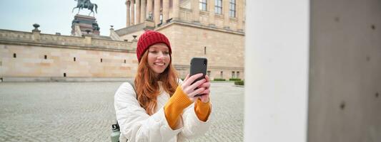
[[[148,50],[142,56],[135,77],[135,89],[137,100],[147,114],[154,114],[157,107],[157,96],[161,93],[158,81],[162,82],[162,88],[172,97],[178,86],[177,71],[172,66],[172,58],[164,72],[155,76],[154,70],[148,64]]]

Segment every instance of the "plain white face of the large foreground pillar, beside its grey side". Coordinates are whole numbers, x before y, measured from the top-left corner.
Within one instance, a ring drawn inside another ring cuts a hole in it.
[[[309,0],[246,1],[244,141],[307,141]]]

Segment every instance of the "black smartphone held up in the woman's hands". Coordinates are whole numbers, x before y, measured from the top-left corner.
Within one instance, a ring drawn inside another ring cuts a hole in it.
[[[189,77],[192,77],[192,75],[202,73],[202,77],[197,78],[197,80],[194,80],[194,82],[204,79],[205,75],[207,75],[207,65],[208,65],[207,58],[192,58],[190,62]],[[192,84],[194,82],[192,82]],[[202,96],[202,94],[195,95],[195,97],[197,96]]]

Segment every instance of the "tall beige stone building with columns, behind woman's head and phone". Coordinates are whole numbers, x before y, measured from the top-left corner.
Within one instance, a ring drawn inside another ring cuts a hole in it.
[[[192,57],[208,58],[212,78],[244,77],[244,0],[127,0],[124,40],[144,30],[168,36],[173,64],[184,77]]]

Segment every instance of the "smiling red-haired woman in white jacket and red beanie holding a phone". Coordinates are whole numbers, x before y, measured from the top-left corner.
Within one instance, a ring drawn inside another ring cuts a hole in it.
[[[140,36],[134,87],[124,82],[114,97],[119,141],[187,141],[209,129],[209,77],[194,82],[202,74],[187,75],[182,82],[171,54],[169,40],[162,33],[146,31]]]

